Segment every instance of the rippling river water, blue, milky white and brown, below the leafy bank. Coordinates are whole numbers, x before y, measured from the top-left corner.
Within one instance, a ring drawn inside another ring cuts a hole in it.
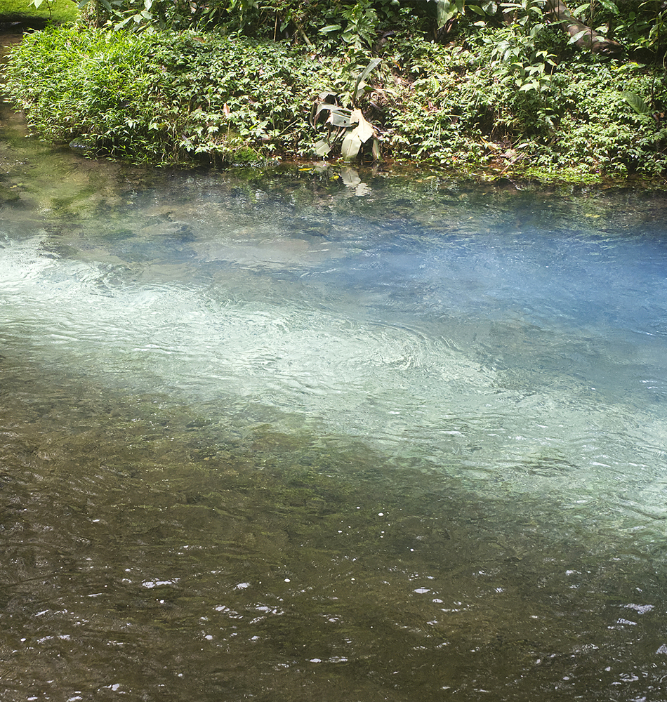
[[[0,140],[0,698],[667,699],[667,196]]]

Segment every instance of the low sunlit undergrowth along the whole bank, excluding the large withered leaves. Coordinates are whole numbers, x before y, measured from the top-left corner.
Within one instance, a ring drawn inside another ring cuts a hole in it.
[[[464,171],[667,173],[663,70],[576,53],[549,27],[530,42],[519,25],[484,27],[447,46],[408,27],[374,51],[51,27],[11,55],[4,89],[42,137],[151,164],[338,157],[357,108],[366,160],[375,142],[384,159]]]

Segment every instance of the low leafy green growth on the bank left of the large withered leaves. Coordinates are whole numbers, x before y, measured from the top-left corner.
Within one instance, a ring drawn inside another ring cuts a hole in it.
[[[242,37],[47,29],[13,53],[6,91],[48,140],[135,161],[224,161],[248,145],[308,149],[325,73],[286,44]]]

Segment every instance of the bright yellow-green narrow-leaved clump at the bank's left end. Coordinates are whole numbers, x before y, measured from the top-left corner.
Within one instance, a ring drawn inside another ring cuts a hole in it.
[[[148,35],[48,28],[11,55],[6,90],[46,139],[87,137],[99,150],[157,157],[148,138],[156,75]]]

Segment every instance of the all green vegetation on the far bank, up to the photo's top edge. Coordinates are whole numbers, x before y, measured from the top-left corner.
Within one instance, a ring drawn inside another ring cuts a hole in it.
[[[39,135],[94,154],[667,172],[667,11],[653,1],[572,14],[554,0],[81,5],[85,28],[25,38],[5,89]],[[579,27],[595,31],[597,53]]]

